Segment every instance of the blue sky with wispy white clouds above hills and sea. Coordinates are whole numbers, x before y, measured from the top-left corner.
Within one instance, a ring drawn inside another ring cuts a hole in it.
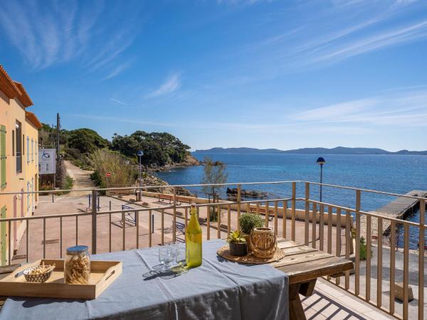
[[[427,1],[2,1],[42,122],[192,149],[427,149]]]

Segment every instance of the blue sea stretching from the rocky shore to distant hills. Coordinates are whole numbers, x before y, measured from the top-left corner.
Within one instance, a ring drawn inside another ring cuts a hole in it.
[[[319,156],[325,158],[323,183],[350,186],[390,193],[407,193],[412,190],[427,190],[427,156],[411,155],[347,155],[347,154],[209,154],[194,152],[196,159],[205,156],[226,164],[227,183],[267,182],[267,181],[320,181]],[[174,168],[158,172],[159,178],[170,184],[197,184],[204,176],[204,166]],[[235,187],[236,186],[230,186]],[[268,198],[289,198],[292,193],[290,183],[256,184],[242,186],[246,190],[263,191]],[[198,196],[206,196],[201,187],[189,187]],[[219,190],[226,199],[226,187]],[[297,197],[304,197],[305,189],[298,184]],[[310,198],[319,199],[318,186],[310,188]],[[376,210],[393,201],[394,196],[362,192],[362,210]],[[339,206],[355,206],[355,191],[323,187],[322,201]],[[300,206],[303,206],[300,203]],[[301,207],[302,208],[302,207]],[[419,222],[419,210],[415,210],[407,220]],[[417,230],[412,230],[417,229]],[[411,247],[418,243],[418,228],[411,228]]]

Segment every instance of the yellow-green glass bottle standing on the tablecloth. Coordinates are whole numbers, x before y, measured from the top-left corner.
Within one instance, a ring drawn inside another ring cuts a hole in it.
[[[190,221],[185,230],[185,249],[187,267],[201,265],[201,228],[197,216],[196,204],[191,203]]]

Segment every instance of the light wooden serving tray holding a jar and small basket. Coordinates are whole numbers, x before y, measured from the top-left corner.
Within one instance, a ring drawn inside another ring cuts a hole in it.
[[[26,282],[22,271],[28,267],[56,264],[44,283]],[[90,284],[65,284],[64,260],[42,259],[19,267],[0,279],[0,296],[96,299],[122,273],[122,262],[90,261]]]

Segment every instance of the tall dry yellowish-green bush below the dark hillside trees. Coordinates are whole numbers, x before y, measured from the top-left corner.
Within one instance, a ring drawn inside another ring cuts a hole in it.
[[[108,149],[97,149],[89,156],[94,173],[91,178],[100,188],[131,186],[135,183],[135,166],[127,163],[122,154]],[[105,176],[107,172],[110,177]]]

